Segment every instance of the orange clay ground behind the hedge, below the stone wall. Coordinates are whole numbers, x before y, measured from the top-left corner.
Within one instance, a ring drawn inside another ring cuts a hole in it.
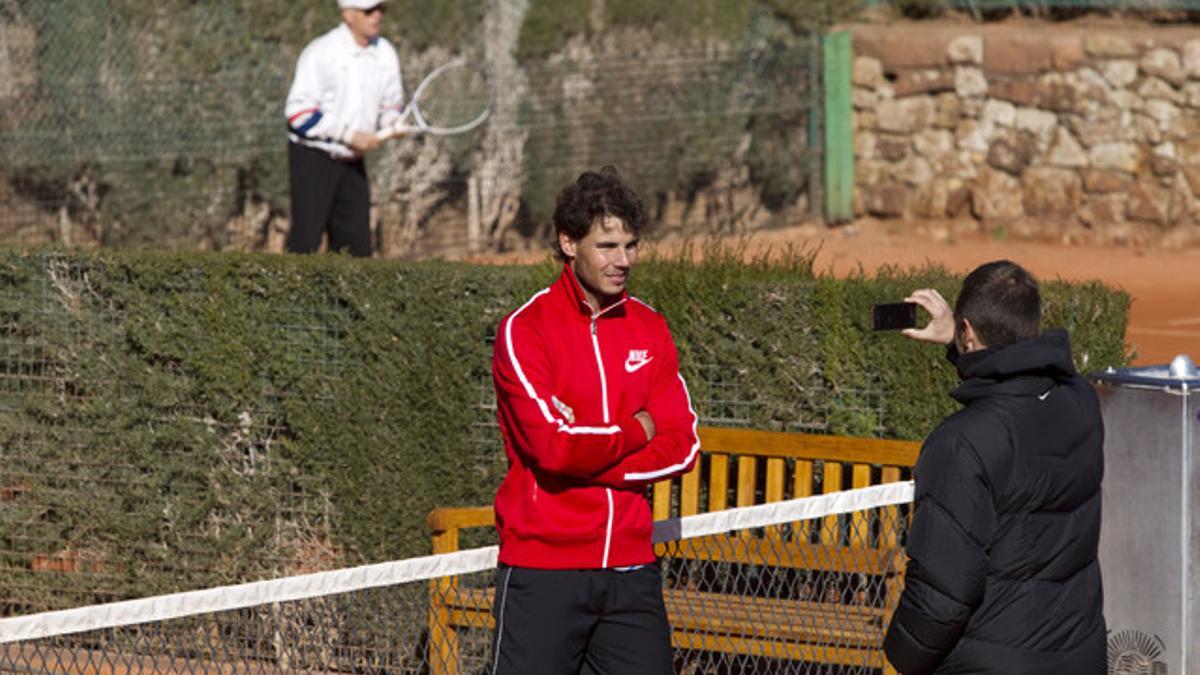
[[[827,228],[804,225],[764,231],[745,238],[748,251],[779,250],[786,244],[820,245],[822,271],[845,275],[859,264],[911,267],[929,262],[966,273],[973,267],[1009,258],[1043,280],[1098,280],[1133,297],[1126,344],[1135,365],[1170,363],[1186,353],[1200,360],[1200,249],[1136,245],[1063,245],[1033,240],[997,240],[985,234],[930,235],[911,223],[863,220]],[[679,241],[653,243],[670,252]],[[474,262],[533,262],[545,252],[509,253]]]

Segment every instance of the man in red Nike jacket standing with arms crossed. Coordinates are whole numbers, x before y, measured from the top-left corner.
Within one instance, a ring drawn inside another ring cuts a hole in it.
[[[673,673],[646,489],[700,441],[666,321],[625,291],[644,222],[616,169],[582,174],[554,210],[562,276],[497,330],[493,675]]]

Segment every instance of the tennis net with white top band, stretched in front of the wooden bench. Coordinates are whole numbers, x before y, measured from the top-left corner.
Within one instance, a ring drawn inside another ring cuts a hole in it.
[[[655,522],[676,669],[876,673],[912,483]],[[0,673],[486,673],[496,546],[0,619]]]

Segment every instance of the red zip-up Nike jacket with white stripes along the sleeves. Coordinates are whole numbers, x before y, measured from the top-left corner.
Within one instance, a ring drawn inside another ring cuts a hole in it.
[[[502,563],[596,569],[654,561],[648,484],[696,462],[696,413],[666,321],[624,294],[594,312],[570,267],[504,317],[492,354],[509,472]],[[634,413],[654,418],[647,442]]]

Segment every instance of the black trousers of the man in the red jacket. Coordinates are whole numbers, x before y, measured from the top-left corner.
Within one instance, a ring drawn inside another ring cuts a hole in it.
[[[491,675],[671,675],[658,565],[614,569],[500,566]]]

